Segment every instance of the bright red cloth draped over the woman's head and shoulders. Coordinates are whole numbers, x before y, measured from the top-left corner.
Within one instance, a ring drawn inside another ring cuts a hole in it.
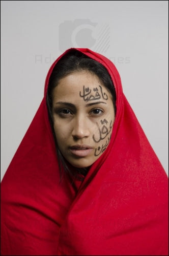
[[[168,177],[123,94],[110,143],[84,181],[60,172],[44,98],[1,183],[1,255],[168,255]]]

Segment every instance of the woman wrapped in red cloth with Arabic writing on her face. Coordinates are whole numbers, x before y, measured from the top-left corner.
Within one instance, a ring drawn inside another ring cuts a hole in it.
[[[167,184],[113,63],[68,49],[1,184],[2,255],[167,255]]]

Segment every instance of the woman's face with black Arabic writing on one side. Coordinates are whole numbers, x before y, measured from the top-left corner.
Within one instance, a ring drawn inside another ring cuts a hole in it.
[[[112,96],[89,71],[71,73],[53,90],[58,146],[74,167],[88,167],[107,148],[115,120]]]

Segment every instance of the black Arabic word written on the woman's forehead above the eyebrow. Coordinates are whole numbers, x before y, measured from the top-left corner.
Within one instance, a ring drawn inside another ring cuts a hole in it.
[[[100,87],[100,93],[99,93],[99,89],[96,87],[93,89],[93,93],[92,90],[89,89],[89,87],[85,87],[83,86],[83,91],[79,92],[79,96],[83,98],[83,100],[85,100],[86,102],[90,101],[90,100],[98,100],[101,97],[105,100],[108,99],[108,96],[106,93],[103,93],[102,87]]]

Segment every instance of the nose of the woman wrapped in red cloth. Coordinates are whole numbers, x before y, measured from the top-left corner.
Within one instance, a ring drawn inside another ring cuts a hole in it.
[[[85,117],[78,116],[74,119],[72,136],[74,139],[89,137],[90,131]]]

